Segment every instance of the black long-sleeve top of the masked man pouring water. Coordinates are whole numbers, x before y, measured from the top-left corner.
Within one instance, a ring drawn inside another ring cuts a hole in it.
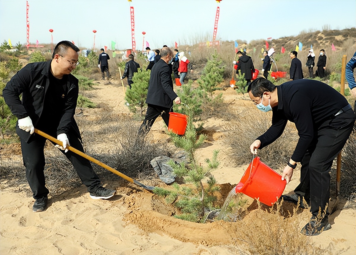
[[[333,87],[316,80],[294,80],[277,86],[278,106],[272,108],[272,126],[257,139],[259,149],[283,133],[287,121],[295,123],[299,140],[292,160],[300,162],[320,125],[348,104]]]

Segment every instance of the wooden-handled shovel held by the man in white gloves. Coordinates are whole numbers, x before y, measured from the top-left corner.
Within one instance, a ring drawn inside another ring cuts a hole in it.
[[[45,137],[46,139],[48,139],[48,140],[50,140],[50,141],[52,141],[54,143],[57,143],[57,144],[63,146],[63,143],[60,140],[58,140],[58,139],[56,139],[54,137],[51,137],[48,134],[43,133],[42,131],[40,131],[40,130],[38,130],[36,128],[35,128],[35,133],[39,134],[40,136]],[[93,157],[81,152],[80,150],[77,150],[77,149],[73,148],[72,146],[67,146],[66,149],[70,150],[71,152],[74,152],[75,154],[78,154],[78,155],[82,156],[83,158],[86,158],[86,159],[90,160],[91,162],[94,162],[95,164],[97,164],[99,166],[102,166],[103,168],[109,170],[110,172],[113,172],[114,174],[119,175],[120,177],[124,178],[126,181],[129,181],[129,182],[131,182],[133,184],[136,184],[136,185],[144,188],[145,190],[148,190],[148,191],[152,192],[153,188],[155,188],[155,187],[152,187],[152,186],[146,186],[146,185],[142,184],[139,181],[133,180],[129,176],[122,174],[121,172],[115,170],[114,168],[111,168],[110,166],[104,164],[103,162],[100,162],[99,160],[94,159]]]

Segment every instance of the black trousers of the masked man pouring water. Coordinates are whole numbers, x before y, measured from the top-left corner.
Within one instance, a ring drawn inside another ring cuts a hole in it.
[[[344,147],[355,122],[355,113],[350,109],[328,119],[321,124],[314,134],[300,164],[300,184],[295,188],[296,194],[310,199],[310,212],[317,216],[319,208],[321,214],[329,215],[324,210],[330,198],[330,174],[333,160]]]

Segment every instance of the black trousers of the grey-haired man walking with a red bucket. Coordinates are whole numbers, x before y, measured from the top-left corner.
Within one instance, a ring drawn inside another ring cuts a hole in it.
[[[143,123],[141,124],[141,127],[138,130],[139,135],[147,134],[150,131],[155,120],[160,115],[161,115],[164,123],[166,123],[166,125],[168,127],[169,111],[172,112],[172,110],[170,108],[166,108],[166,107],[162,107],[162,106],[158,106],[158,105],[151,105],[151,104],[147,104],[147,105],[148,105],[148,107],[147,107],[145,119],[143,120]]]

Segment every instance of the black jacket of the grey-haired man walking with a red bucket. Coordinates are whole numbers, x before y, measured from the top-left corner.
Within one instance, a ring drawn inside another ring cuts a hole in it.
[[[151,70],[146,103],[171,108],[176,97],[170,69],[167,63],[160,59]]]

